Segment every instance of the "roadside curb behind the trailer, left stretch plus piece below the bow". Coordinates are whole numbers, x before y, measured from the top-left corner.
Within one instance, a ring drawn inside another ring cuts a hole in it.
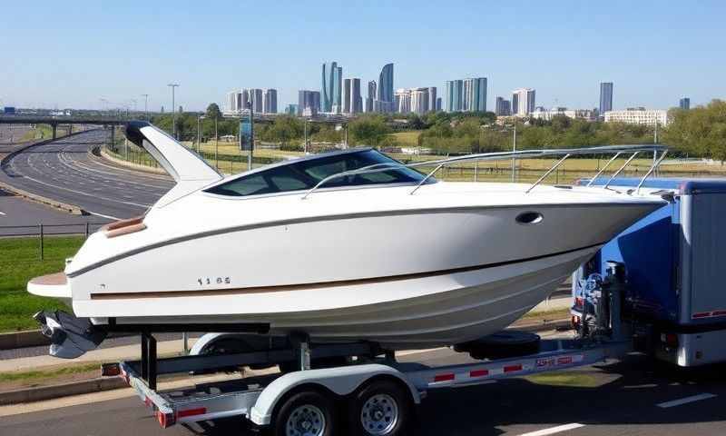
[[[553,320],[546,322],[529,322],[521,325],[513,325],[509,329],[524,332],[544,332],[548,330],[560,330],[570,325],[569,319]],[[100,377],[92,380],[73,381],[69,383],[27,388],[18,391],[0,392],[0,406],[19,404],[24,402],[52,400],[55,398],[82,395],[100,391],[112,391],[114,389],[128,388],[129,385],[120,377]]]

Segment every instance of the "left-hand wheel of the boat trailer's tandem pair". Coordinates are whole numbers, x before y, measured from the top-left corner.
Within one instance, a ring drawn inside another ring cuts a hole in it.
[[[316,391],[302,391],[280,407],[274,436],[332,436],[337,434],[333,402]]]

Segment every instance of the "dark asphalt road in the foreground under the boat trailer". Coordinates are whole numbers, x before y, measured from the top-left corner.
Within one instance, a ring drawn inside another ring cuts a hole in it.
[[[407,356],[425,364],[460,360],[448,350]],[[724,366],[674,371],[642,357],[559,374],[587,383],[556,386],[526,379],[430,391],[418,408],[415,435],[715,435],[726,434]],[[587,385],[587,386],[585,386]],[[712,396],[705,396],[708,393]],[[701,401],[663,404],[701,395]],[[660,406],[659,406],[660,404]],[[137,397],[4,416],[14,436],[251,436],[237,418],[160,429]],[[568,430],[569,429],[569,430]]]

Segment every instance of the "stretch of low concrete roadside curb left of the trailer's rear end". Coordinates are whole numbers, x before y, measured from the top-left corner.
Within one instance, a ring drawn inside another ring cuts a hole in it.
[[[0,406],[53,400],[55,398],[69,397],[72,395],[82,395],[83,393],[112,391],[114,389],[128,387],[129,385],[121,377],[99,377],[92,380],[72,381],[69,383],[55,384],[53,386],[0,392]]]

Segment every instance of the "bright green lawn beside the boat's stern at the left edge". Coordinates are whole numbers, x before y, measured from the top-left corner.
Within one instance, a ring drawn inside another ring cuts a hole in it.
[[[34,329],[35,312],[65,308],[62,302],[29,294],[25,285],[33,277],[62,271],[65,258],[81,244],[83,236],[45,237],[40,261],[38,238],[0,239],[0,332]]]

